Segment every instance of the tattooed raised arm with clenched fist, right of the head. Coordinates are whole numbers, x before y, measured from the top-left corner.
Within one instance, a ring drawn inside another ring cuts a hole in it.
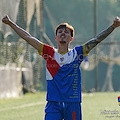
[[[85,50],[88,54],[90,50],[92,50],[98,43],[103,41],[116,27],[120,26],[120,18],[116,17],[113,24],[108,27],[106,30],[102,31],[100,34],[98,34],[95,38],[89,40],[87,43],[85,43]]]

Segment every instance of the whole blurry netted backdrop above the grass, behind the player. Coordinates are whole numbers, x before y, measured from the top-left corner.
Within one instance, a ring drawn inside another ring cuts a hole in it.
[[[0,0],[8,14],[40,41],[57,47],[55,28],[75,28],[70,48],[84,44],[120,16],[119,0]],[[81,65],[82,90],[120,91],[120,28],[100,43]],[[45,61],[9,26],[0,23],[0,98],[46,90]]]

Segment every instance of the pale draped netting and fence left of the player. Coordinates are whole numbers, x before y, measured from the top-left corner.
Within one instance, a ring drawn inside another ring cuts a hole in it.
[[[43,41],[42,2],[42,0],[1,0],[0,17],[8,14],[19,26]],[[35,92],[46,88],[43,83],[42,58],[37,50],[4,24],[0,24],[0,68],[1,98],[18,96],[22,91]],[[12,68],[16,72],[12,72]],[[3,70],[4,75],[2,75]],[[17,77],[18,74],[21,76]],[[20,88],[17,87],[17,82]],[[6,85],[9,86],[5,87]],[[16,90],[17,88],[20,90]],[[13,90],[15,93],[12,92]],[[3,91],[6,94],[2,95]]]

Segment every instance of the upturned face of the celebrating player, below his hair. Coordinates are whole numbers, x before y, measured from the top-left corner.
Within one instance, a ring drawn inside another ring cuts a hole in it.
[[[60,44],[69,44],[73,40],[71,37],[71,31],[69,28],[60,28],[57,31],[55,40]]]

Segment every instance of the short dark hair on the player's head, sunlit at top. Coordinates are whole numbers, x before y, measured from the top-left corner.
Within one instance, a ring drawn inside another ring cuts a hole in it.
[[[61,23],[59,24],[57,27],[56,27],[56,35],[57,35],[57,31],[60,29],[60,28],[68,28],[70,29],[71,31],[71,36],[74,37],[74,28],[72,25],[68,24],[68,23]]]

